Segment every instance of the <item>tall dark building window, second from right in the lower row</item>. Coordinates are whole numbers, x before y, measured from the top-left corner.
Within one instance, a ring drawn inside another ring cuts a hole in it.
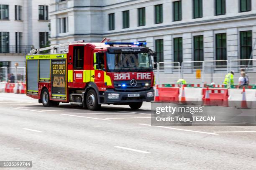
[[[216,60],[227,59],[227,35],[226,33],[216,34]],[[217,65],[226,65],[225,61],[216,62]]]

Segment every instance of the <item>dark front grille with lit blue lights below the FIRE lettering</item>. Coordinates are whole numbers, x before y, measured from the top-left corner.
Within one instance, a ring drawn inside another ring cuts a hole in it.
[[[151,87],[151,80],[137,80],[136,86],[131,86],[131,80],[114,81],[114,88],[116,91],[146,91]],[[125,85],[124,85],[125,84]],[[148,86],[146,86],[148,84]]]

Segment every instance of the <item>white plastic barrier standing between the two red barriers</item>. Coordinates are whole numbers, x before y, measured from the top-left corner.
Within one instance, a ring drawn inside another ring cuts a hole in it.
[[[185,97],[187,101],[202,101],[202,88],[184,88]],[[181,101],[181,94],[179,95],[179,100]]]

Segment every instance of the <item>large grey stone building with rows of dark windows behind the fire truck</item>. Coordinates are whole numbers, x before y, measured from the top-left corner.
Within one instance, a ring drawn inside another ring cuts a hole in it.
[[[53,45],[146,41],[158,62],[199,61],[194,66],[249,59],[256,40],[255,0],[51,0],[50,18]]]

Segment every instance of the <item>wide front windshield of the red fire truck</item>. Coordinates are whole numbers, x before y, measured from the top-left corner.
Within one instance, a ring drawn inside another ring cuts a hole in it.
[[[148,53],[107,53],[108,71],[151,71]]]

